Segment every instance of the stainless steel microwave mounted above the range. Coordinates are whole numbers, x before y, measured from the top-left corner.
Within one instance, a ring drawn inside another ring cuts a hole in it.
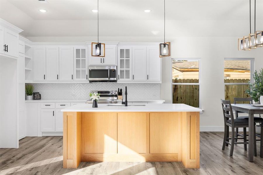
[[[89,66],[89,81],[117,81],[117,66]]]

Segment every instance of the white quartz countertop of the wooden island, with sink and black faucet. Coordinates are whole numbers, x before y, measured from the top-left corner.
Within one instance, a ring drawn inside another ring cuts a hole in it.
[[[129,102],[128,102],[129,105]],[[92,108],[92,104],[77,104],[61,110],[62,112],[201,112],[199,108],[186,104],[145,104],[145,106],[107,106],[98,104],[98,108]]]

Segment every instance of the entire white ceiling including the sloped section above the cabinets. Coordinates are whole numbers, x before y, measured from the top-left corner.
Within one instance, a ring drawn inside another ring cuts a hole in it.
[[[91,11],[96,0],[47,1],[0,0],[0,17],[24,36],[97,35],[97,13]],[[256,4],[262,30],[263,0]],[[252,19],[253,6],[252,0]],[[99,0],[100,35],[162,37],[163,13],[163,0]],[[243,36],[249,31],[249,0],[166,0],[166,19],[167,36]]]

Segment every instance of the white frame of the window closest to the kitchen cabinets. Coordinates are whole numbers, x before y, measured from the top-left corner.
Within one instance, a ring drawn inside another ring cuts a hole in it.
[[[179,60],[187,60],[187,61],[198,61],[199,62],[199,71],[198,71],[198,76],[199,76],[199,81],[198,83],[173,83],[172,82],[172,75],[173,75],[173,61],[179,61]],[[201,58],[172,58],[171,59],[171,76],[170,76],[170,81],[171,81],[171,97],[173,97],[173,85],[199,85],[199,109],[202,109],[202,62]]]

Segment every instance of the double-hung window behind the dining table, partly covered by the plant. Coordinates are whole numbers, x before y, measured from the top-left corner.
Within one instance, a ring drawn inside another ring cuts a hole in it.
[[[234,103],[234,97],[250,97],[245,91],[249,89],[248,83],[253,81],[253,67],[253,58],[225,58],[224,85],[226,100]]]

